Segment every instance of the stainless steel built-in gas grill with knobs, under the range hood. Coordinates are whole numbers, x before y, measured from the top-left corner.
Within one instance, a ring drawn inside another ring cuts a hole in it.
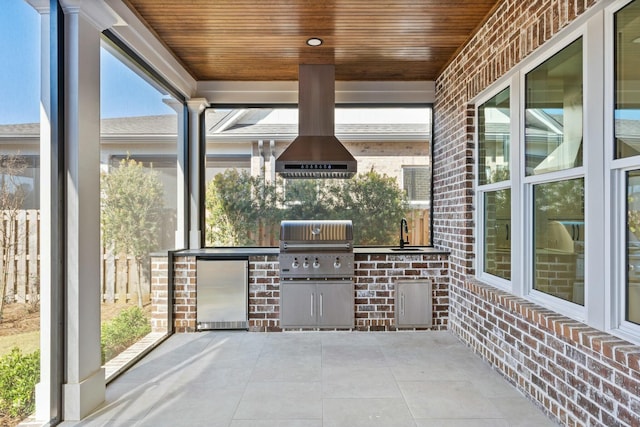
[[[351,280],[351,221],[282,221],[279,261],[280,280]]]

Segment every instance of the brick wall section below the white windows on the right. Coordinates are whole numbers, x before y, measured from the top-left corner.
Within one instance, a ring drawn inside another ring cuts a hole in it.
[[[451,329],[563,425],[640,425],[640,347],[482,283]]]

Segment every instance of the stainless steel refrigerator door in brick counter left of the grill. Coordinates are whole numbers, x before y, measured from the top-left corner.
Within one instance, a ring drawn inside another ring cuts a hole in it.
[[[198,329],[248,327],[248,261],[198,259]]]

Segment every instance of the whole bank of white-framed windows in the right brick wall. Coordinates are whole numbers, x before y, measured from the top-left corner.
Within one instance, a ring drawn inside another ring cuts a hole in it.
[[[477,276],[635,342],[640,0],[577,21],[476,99]]]

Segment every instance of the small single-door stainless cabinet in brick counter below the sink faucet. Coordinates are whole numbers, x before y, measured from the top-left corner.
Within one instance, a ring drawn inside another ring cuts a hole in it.
[[[431,327],[433,308],[431,280],[398,280],[396,282],[396,326],[399,328]]]

